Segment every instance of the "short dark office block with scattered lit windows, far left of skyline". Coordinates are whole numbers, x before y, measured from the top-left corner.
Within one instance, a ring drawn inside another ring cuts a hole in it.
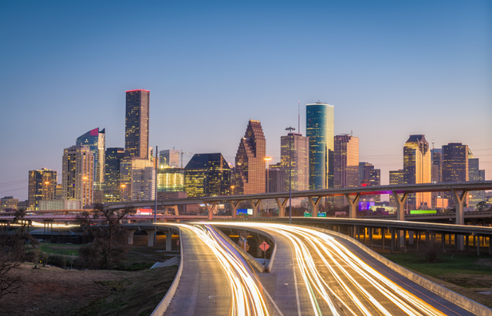
[[[39,210],[39,201],[56,199],[56,184],[58,175],[56,171],[41,168],[29,171],[29,193],[27,208],[32,211]]]

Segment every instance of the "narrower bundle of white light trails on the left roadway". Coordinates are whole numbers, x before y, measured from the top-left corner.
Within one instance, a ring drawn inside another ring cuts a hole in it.
[[[169,225],[169,224],[167,224]],[[257,276],[241,254],[226,242],[210,225],[172,224],[195,232],[221,263],[232,293],[231,315],[268,316],[262,287]]]

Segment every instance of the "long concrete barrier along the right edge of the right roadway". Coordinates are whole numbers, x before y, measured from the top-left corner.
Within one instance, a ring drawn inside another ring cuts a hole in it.
[[[352,237],[349,237],[347,235],[341,234],[339,232],[334,232],[332,230],[325,230],[324,228],[316,228],[316,227],[309,227],[309,226],[303,226],[306,228],[311,228],[313,230],[318,230],[319,232],[325,232],[330,235],[335,235],[337,237],[341,237],[343,239],[347,239],[349,242],[354,243],[356,246],[361,248],[363,251],[368,253],[370,256],[375,258],[377,261],[380,261],[380,263],[383,263],[387,267],[389,267],[391,270],[394,270],[395,272],[398,272],[400,275],[403,275],[403,277],[406,277],[407,279],[410,279],[411,281],[419,284],[421,287],[424,287],[425,289],[428,289],[429,291],[432,291],[432,293],[437,294],[441,296],[442,298],[446,298],[446,300],[455,303],[456,305],[460,306],[460,308],[463,308],[469,312],[474,313],[475,315],[480,315],[480,316],[492,316],[492,310],[484,305],[481,305],[480,303],[477,303],[470,298],[466,298],[465,296],[462,296],[454,291],[451,291],[450,289],[446,289],[445,287],[441,287],[441,285],[436,284],[432,281],[429,281],[429,279],[426,279],[425,277],[421,277],[420,275],[417,275],[414,272],[411,272],[410,270],[407,270],[406,268],[403,268],[401,265],[397,265],[393,261],[389,261],[387,258],[384,258],[380,254],[377,254],[377,252],[369,249],[367,246],[361,244],[357,239],[354,239]]]

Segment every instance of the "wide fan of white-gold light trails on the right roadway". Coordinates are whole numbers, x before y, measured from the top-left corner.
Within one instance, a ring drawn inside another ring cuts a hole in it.
[[[224,225],[224,223],[209,223]],[[294,225],[234,223],[289,239],[314,315],[444,316],[371,268],[334,237]],[[315,258],[316,257],[316,258]],[[321,261],[321,264],[320,262]]]

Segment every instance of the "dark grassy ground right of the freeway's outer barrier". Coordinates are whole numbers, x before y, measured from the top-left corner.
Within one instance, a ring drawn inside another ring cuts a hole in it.
[[[492,256],[444,254],[439,262],[427,263],[421,261],[419,254],[381,255],[432,282],[492,308],[492,295],[477,293],[491,290]]]

